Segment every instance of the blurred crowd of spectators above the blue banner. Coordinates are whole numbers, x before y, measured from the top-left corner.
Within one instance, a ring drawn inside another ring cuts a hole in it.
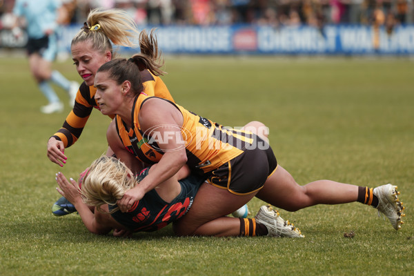
[[[35,1],[35,0],[33,0]],[[412,23],[414,0],[62,0],[66,23],[83,23],[91,8],[127,10],[136,23],[268,26]],[[0,0],[1,17],[14,0]]]

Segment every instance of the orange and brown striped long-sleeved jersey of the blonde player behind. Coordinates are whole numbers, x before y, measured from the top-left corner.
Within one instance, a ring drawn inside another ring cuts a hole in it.
[[[144,84],[144,92],[150,96],[156,96],[168,99],[174,102],[164,81],[160,77],[152,75],[148,70],[141,71],[141,80]],[[83,82],[77,92],[75,106],[70,111],[63,126],[53,135],[58,140],[63,141],[65,148],[75,144],[81,136],[83,128],[88,121],[93,108],[99,110],[95,93],[97,89],[94,86],[86,86]],[[114,116],[110,116],[113,119]]]

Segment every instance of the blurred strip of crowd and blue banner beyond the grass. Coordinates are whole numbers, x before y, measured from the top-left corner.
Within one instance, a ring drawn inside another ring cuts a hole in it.
[[[61,59],[91,8],[127,10],[157,27],[172,54],[412,55],[413,0],[63,0]],[[10,32],[14,0],[0,0],[0,48],[23,48]]]

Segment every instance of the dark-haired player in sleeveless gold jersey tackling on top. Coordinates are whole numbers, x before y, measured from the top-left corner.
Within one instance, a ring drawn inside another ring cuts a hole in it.
[[[117,200],[122,212],[187,165],[193,173],[204,175],[208,184],[201,185],[192,208],[175,223],[177,235],[217,235],[224,216],[253,197],[289,211],[359,201],[384,213],[396,230],[401,227],[404,208],[396,186],[373,189],[331,180],[300,186],[277,164],[266,141],[253,132],[224,128],[172,101],[142,92],[137,77],[140,63],[139,55],[115,59],[103,64],[95,76],[101,113],[116,114],[107,138],[117,157],[134,172],[142,162],[158,164]],[[253,230],[254,224],[249,221],[245,230]]]

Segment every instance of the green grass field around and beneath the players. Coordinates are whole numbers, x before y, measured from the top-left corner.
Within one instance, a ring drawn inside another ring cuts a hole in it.
[[[79,80],[70,61],[55,68]],[[46,142],[70,108],[42,115],[46,100],[26,59],[1,57],[0,275],[413,275],[413,68],[407,59],[167,56],[164,77],[175,100],[199,115],[226,126],[263,121],[299,184],[397,184],[402,230],[353,203],[279,210],[304,239],[183,238],[170,227],[117,239],[88,233],[78,215],[50,212],[55,173],[77,178],[106,150],[108,117],[92,112],[59,168]],[[252,217],[262,204],[250,201]]]

